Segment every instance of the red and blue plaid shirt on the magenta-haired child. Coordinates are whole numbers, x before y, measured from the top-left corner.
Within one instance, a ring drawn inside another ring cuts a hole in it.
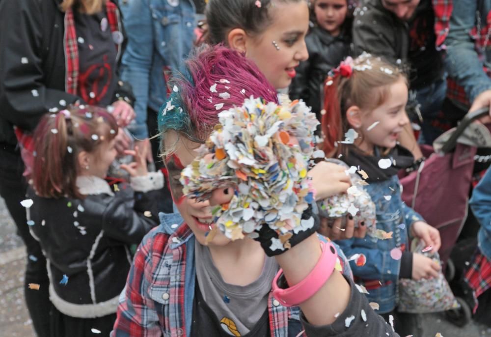
[[[169,220],[169,216],[174,219]],[[161,221],[160,226],[145,236],[136,252],[119,298],[111,337],[190,336],[195,284],[194,234],[186,224],[175,228],[182,223],[178,213],[161,214]],[[346,257],[340,249],[338,254],[343,274],[352,278]],[[288,337],[288,320],[300,321],[300,308],[279,305],[272,292],[268,312],[271,337]]]

